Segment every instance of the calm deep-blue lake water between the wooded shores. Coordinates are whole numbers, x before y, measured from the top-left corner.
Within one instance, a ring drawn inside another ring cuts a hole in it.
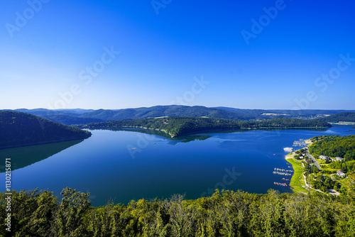
[[[355,129],[334,125],[323,130],[213,132],[173,139],[148,131],[91,132],[85,140],[0,150],[1,160],[11,158],[11,188],[38,187],[60,197],[61,190],[70,187],[90,192],[92,206],[109,199],[127,204],[173,194],[197,199],[214,189],[292,192],[274,184],[290,182],[282,180],[290,176],[273,174],[275,167],[292,170],[283,148],[314,136],[353,135]],[[5,184],[5,162],[0,165]],[[5,185],[1,186],[4,192]]]

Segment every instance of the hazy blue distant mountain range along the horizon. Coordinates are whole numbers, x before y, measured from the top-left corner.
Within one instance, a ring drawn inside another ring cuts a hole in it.
[[[341,113],[355,112],[345,110],[264,110],[264,109],[234,109],[229,107],[204,107],[204,106],[153,106],[136,109],[16,109],[24,112],[48,118],[51,121],[66,125],[95,123],[109,120],[156,118],[162,116],[190,116],[224,118],[233,120],[265,120],[270,118],[300,118],[312,119]],[[90,120],[91,119],[91,120]]]

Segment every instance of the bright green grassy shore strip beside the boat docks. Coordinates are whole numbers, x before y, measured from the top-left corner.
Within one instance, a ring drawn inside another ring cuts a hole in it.
[[[308,190],[302,186],[305,186],[305,180],[303,178],[303,168],[302,162],[297,162],[295,160],[295,152],[286,155],[285,159],[292,165],[293,167],[293,176],[290,181],[290,187],[293,192],[303,192],[307,193]]]

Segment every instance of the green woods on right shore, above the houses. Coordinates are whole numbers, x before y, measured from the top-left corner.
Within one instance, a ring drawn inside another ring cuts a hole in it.
[[[355,135],[351,136],[316,136],[311,139],[310,153],[341,157],[346,161],[355,160]]]

